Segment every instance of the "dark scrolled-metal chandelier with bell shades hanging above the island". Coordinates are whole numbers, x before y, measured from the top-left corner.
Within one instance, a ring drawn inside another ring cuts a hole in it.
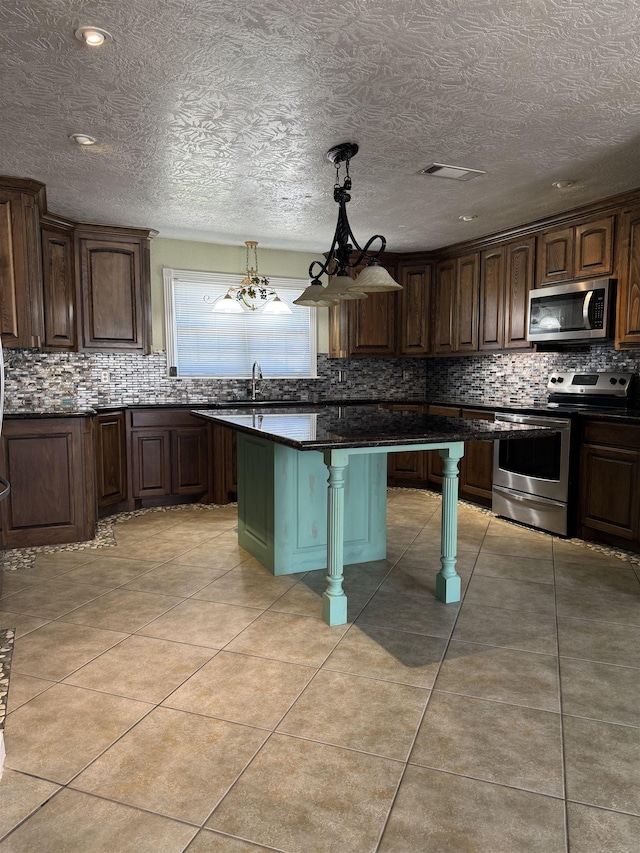
[[[349,161],[357,153],[358,146],[355,142],[343,142],[327,151],[327,158],[336,167],[333,199],[339,205],[338,224],[326,261],[313,261],[309,267],[311,284],[298,299],[294,299],[295,305],[309,305],[315,308],[326,307],[336,305],[343,299],[364,299],[367,293],[402,290],[402,286],[393,280],[378,261],[387,245],[385,238],[381,234],[375,234],[367,240],[364,246],[360,246],[349,225],[347,218],[347,202],[351,200],[349,194],[351,190]],[[345,177],[341,184],[340,167],[343,163]],[[376,241],[380,241],[379,248],[372,250],[371,246]],[[356,269],[361,266],[363,261],[366,262],[366,266],[354,279],[348,270]],[[326,287],[320,281],[321,275],[330,277],[329,284]]]

